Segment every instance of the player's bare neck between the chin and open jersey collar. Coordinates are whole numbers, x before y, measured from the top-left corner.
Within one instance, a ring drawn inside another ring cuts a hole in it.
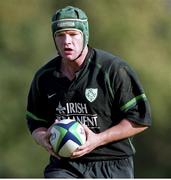
[[[78,59],[74,61],[68,61],[66,59],[62,59],[61,72],[63,73],[63,75],[70,80],[74,79],[75,73],[82,68],[87,53],[88,53],[88,47],[86,46]]]

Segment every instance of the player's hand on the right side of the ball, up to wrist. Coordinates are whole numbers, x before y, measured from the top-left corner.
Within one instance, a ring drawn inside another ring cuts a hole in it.
[[[84,145],[78,147],[77,150],[73,152],[71,159],[88,154],[100,145],[100,134],[94,133],[86,125],[82,126],[84,127],[87,139]]]

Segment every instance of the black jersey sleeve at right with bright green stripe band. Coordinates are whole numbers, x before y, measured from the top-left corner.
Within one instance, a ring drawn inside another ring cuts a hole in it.
[[[115,76],[115,103],[121,118],[141,125],[151,125],[149,101],[136,73],[128,66],[119,68]]]

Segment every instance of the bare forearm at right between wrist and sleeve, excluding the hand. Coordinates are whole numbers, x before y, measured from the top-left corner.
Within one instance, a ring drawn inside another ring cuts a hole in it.
[[[98,134],[99,146],[134,136],[146,128],[147,126],[137,125],[127,119],[123,119],[118,125]]]

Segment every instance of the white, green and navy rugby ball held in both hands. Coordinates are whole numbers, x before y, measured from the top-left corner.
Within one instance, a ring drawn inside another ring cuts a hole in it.
[[[54,152],[61,157],[70,157],[85,141],[84,128],[75,120],[61,120],[51,128],[50,143]]]

